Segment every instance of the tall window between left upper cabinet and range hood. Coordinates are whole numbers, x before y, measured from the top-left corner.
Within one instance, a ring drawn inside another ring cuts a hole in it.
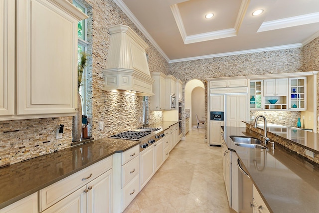
[[[83,13],[87,14],[87,8],[80,2],[80,0],[73,0],[73,4],[80,9]],[[88,48],[88,41],[87,41],[87,20],[80,20],[78,22],[78,53],[82,51],[87,51]],[[79,54],[78,54],[79,59]],[[82,114],[87,114],[87,67],[83,70],[82,75],[82,83],[79,89],[79,93],[82,97]]]

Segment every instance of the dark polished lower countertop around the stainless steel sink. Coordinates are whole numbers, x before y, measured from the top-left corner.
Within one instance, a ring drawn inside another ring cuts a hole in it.
[[[239,147],[229,136],[254,136],[244,127],[224,127],[228,149],[235,151],[271,212],[318,212],[319,171],[277,145],[275,150]],[[310,142],[309,142],[310,143]]]

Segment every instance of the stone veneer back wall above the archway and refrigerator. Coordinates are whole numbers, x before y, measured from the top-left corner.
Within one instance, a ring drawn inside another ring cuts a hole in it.
[[[205,83],[207,78],[301,72],[302,59],[302,48],[293,48],[176,62],[169,64],[169,68],[170,74],[182,80],[184,85],[192,79],[201,80],[205,85],[207,103],[207,82]],[[296,112],[287,112],[287,116],[296,117]],[[205,139],[207,139],[207,122],[205,127]]]

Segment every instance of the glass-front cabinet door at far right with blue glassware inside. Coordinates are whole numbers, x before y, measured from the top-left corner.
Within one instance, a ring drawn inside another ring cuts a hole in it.
[[[307,77],[289,78],[289,110],[307,109]]]

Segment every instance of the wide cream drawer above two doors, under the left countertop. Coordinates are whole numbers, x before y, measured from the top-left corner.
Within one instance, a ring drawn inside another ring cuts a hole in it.
[[[39,191],[40,212],[112,168],[112,156]]]

